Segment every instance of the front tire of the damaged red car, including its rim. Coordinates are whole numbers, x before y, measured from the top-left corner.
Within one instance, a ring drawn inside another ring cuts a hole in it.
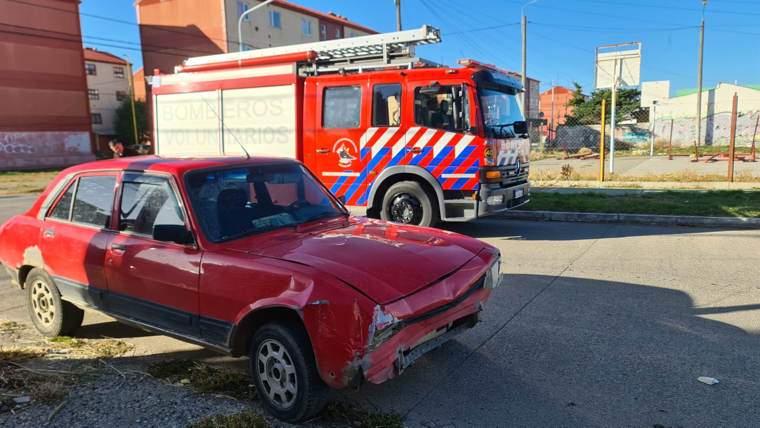
[[[261,404],[284,422],[313,417],[327,402],[312,342],[302,326],[271,322],[251,343],[251,373]]]

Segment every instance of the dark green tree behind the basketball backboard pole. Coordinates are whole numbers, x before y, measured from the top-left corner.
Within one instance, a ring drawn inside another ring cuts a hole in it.
[[[568,113],[565,118],[568,123],[578,125],[591,125],[601,122],[602,117],[602,100],[606,100],[606,122],[610,122],[613,102],[613,91],[611,89],[594,90],[591,97],[584,101],[581,91],[583,88],[578,82],[573,82],[575,90],[573,97],[568,100],[568,106],[573,106],[572,112]],[[625,115],[632,113],[641,105],[641,90],[638,88],[618,89],[616,97],[615,118],[617,122],[625,119]]]

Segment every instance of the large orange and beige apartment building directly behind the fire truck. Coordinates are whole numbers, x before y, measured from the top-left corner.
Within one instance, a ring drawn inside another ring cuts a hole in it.
[[[135,2],[143,43],[144,75],[172,72],[185,59],[241,49],[238,21],[260,4],[237,0],[138,0]],[[242,49],[261,49],[378,33],[332,12],[315,11],[277,0],[246,15]],[[137,92],[137,90],[136,90]],[[150,86],[145,87],[152,121]]]

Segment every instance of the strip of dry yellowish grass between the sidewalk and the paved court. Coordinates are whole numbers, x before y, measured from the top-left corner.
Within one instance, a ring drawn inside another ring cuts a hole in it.
[[[565,173],[565,168],[561,171],[539,171],[530,170],[531,180],[552,181],[552,180],[569,180],[569,181],[594,181],[599,179],[597,171],[570,171]],[[699,173],[696,170],[679,171],[676,173],[664,174],[647,174],[645,176],[624,176],[615,173],[605,173],[606,181],[620,182],[726,182],[726,174],[718,173]],[[760,182],[760,176],[754,176],[752,171],[736,171],[733,173],[734,182]]]

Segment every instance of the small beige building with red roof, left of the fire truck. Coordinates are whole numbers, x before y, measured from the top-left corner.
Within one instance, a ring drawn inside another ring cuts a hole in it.
[[[129,94],[127,62],[109,52],[84,48],[84,74],[87,76],[95,150],[109,150],[108,141],[116,137],[113,125],[116,109]]]

